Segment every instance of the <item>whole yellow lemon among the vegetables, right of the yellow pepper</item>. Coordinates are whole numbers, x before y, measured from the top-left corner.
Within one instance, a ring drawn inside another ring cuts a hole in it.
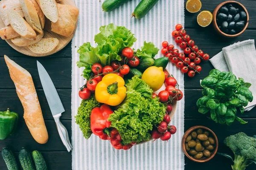
[[[157,91],[162,87],[165,79],[163,67],[151,66],[147,68],[142,74],[141,79],[143,79],[153,91]]]

